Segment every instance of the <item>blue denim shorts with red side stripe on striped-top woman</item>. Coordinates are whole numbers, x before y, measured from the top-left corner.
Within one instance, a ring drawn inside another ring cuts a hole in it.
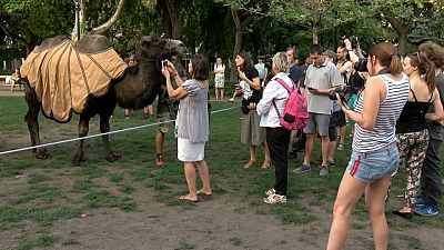
[[[400,166],[396,146],[377,152],[356,152],[353,150],[346,171],[364,183],[390,177]]]

